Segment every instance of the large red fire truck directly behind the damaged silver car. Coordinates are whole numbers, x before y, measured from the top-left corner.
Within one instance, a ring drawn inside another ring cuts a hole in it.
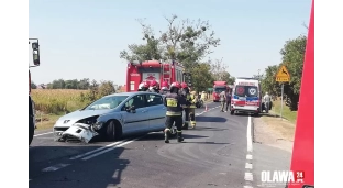
[[[167,81],[184,81],[185,69],[176,60],[145,60],[128,63],[126,92],[137,91],[142,81],[156,80],[158,84]]]

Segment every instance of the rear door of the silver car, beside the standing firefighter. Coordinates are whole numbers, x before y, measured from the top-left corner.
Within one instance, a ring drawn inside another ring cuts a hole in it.
[[[146,95],[148,107],[148,128],[151,131],[161,131],[165,128],[166,107],[163,104],[163,96],[156,93]]]

